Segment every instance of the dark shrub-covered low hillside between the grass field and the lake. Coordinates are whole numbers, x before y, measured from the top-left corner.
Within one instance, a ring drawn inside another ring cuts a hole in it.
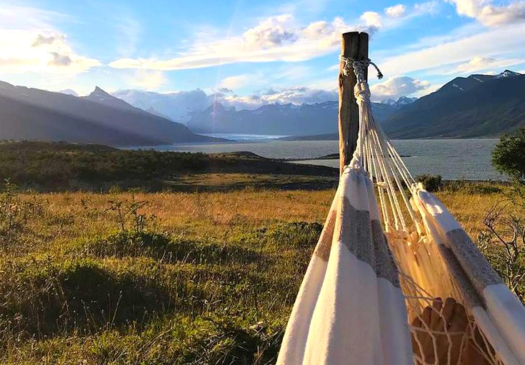
[[[253,186],[255,175],[266,175],[266,183],[258,186],[314,189],[333,187],[339,176],[334,168],[296,165],[249,152],[206,155],[105,145],[0,143],[0,180],[40,191],[215,190],[214,180],[230,190]]]

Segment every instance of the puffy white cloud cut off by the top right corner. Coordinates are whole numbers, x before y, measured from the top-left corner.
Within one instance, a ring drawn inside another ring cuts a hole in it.
[[[525,19],[525,1],[493,5],[492,0],[445,0],[456,6],[459,15],[476,19],[484,26],[511,24]]]

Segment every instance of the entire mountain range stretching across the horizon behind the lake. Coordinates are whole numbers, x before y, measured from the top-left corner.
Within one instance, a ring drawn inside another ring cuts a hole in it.
[[[338,102],[269,104],[236,110],[210,101],[203,91],[162,96],[137,91],[135,106],[96,87],[89,96],[13,86],[0,81],[0,139],[66,140],[114,146],[214,142],[195,133],[294,135],[297,139],[336,139]],[[171,120],[173,98],[181,121]],[[189,98],[186,100],[185,98]],[[164,101],[150,105],[149,101]],[[138,107],[140,106],[140,108]],[[161,107],[161,108],[160,108]],[[458,77],[419,99],[372,103],[390,138],[496,137],[525,127],[525,75]],[[168,111],[169,111],[168,110]]]

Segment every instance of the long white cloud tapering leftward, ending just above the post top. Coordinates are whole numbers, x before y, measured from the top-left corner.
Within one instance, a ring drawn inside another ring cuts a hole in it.
[[[240,36],[216,41],[197,39],[188,51],[175,58],[121,58],[109,63],[114,68],[182,70],[237,62],[306,61],[336,51],[341,33],[352,30],[373,34],[381,27],[381,16],[366,12],[361,23],[346,24],[339,17],[333,21],[314,21],[296,25],[291,15],[271,16],[259,21]]]

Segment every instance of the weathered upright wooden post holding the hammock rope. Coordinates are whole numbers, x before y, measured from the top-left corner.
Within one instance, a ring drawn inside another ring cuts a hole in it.
[[[369,58],[369,35],[364,32],[351,31],[341,38],[341,54],[346,58],[360,61]],[[359,107],[354,97],[356,76],[351,70],[343,74],[344,61],[339,63],[339,167],[348,165],[357,147],[359,133]],[[368,73],[365,71],[365,78]]]

